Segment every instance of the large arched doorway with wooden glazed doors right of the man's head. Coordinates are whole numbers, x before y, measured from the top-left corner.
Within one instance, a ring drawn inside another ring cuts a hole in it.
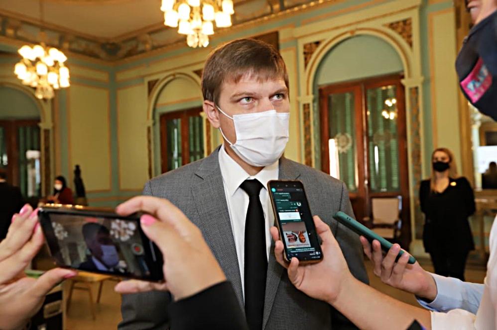
[[[407,234],[403,73],[403,63],[389,43],[358,35],[328,51],[316,70],[313,89],[319,94],[322,170],[347,184],[358,220],[371,215],[372,198],[400,197]]]

